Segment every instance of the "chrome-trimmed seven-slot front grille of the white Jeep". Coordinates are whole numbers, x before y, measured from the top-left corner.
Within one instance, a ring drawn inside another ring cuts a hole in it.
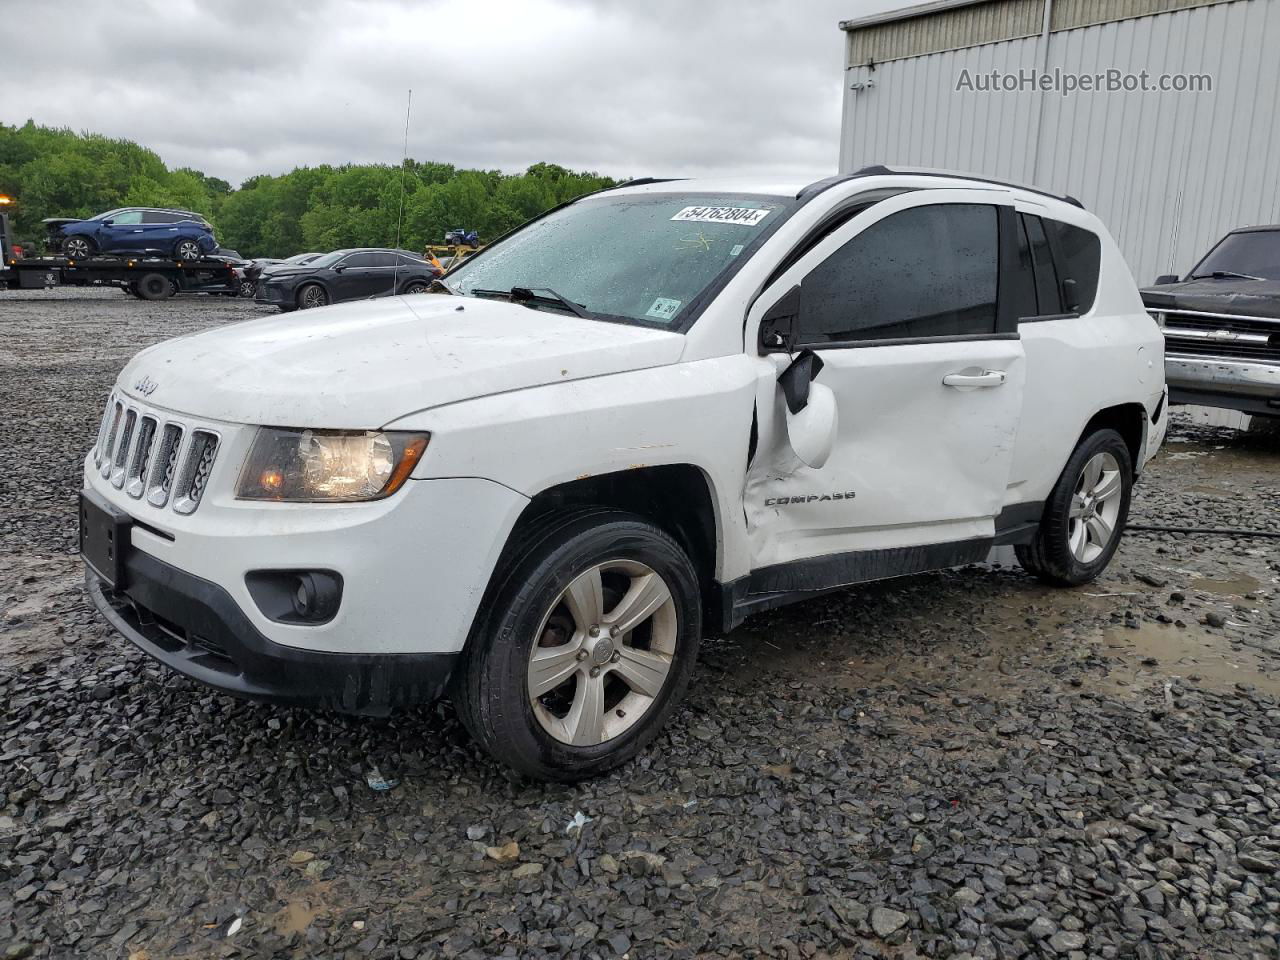
[[[136,500],[178,513],[195,513],[205,497],[218,458],[219,435],[188,429],[160,412],[124,398],[108,402],[93,465],[111,485]]]

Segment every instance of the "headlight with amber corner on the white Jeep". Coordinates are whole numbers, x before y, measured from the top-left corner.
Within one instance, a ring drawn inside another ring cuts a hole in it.
[[[403,486],[429,439],[430,434],[264,426],[236,495],[308,503],[380,500]]]

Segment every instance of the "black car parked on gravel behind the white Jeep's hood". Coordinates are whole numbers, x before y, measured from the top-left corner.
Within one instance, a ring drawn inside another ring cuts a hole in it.
[[[279,264],[257,280],[259,303],[307,310],[346,300],[424,293],[440,270],[403,250],[335,250],[308,264]]]

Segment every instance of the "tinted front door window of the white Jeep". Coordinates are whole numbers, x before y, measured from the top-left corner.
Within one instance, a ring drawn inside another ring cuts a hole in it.
[[[800,283],[800,339],[881,340],[996,330],[996,207],[937,204],[868,227]]]

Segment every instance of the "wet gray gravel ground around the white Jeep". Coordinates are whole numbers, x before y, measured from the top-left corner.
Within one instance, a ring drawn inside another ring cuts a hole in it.
[[[82,595],[79,458],[127,356],[260,312],[0,296],[0,957],[1280,955],[1277,540],[762,616],[576,787],[508,782],[448,704],[154,666]],[[1133,522],[1277,530],[1277,466],[1276,433],[1179,416]]]

